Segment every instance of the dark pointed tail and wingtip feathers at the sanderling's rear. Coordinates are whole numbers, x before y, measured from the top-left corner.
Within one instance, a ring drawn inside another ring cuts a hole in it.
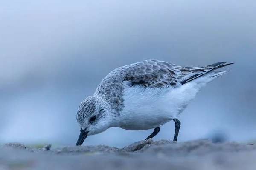
[[[195,74],[194,74],[194,76],[190,77],[189,79],[183,81],[182,84],[190,82],[190,81],[192,81],[194,79],[197,79],[201,76],[204,76],[207,73],[210,73],[210,72],[212,73],[212,72],[214,72],[214,70],[217,70],[219,68],[225,67],[227,65],[234,64],[234,63],[229,63],[229,64],[225,64],[225,63],[227,63],[227,62],[216,62],[214,64],[203,66],[203,67],[186,67],[186,69],[189,69],[190,71],[195,72]],[[220,76],[220,75],[225,74],[227,72],[228,71],[214,72],[216,74],[213,74],[211,77],[217,77],[217,76]]]

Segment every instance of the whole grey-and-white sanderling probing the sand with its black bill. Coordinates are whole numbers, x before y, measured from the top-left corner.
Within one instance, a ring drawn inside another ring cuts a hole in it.
[[[87,136],[102,133],[110,127],[126,130],[148,130],[153,138],[160,126],[175,122],[177,141],[180,121],[177,119],[189,102],[207,83],[228,71],[214,71],[233,64],[217,62],[202,67],[181,67],[172,63],[145,60],[111,71],[92,96],[81,102],[76,119],[81,128],[76,145]],[[146,140],[145,139],[145,140]]]

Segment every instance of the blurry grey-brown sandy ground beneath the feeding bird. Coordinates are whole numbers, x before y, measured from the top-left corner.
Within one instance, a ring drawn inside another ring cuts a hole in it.
[[[0,146],[0,170],[256,170],[256,146],[208,140],[140,141],[125,148]]]

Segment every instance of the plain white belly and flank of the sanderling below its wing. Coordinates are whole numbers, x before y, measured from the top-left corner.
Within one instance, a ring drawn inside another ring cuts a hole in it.
[[[120,113],[120,127],[147,130],[178,118],[200,89],[194,83],[178,88],[125,87],[125,107]]]

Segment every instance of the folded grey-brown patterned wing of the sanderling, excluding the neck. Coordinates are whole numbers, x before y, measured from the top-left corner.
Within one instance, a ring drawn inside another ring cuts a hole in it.
[[[123,81],[130,81],[131,85],[143,85],[151,88],[177,87],[226,66],[225,63],[218,62],[203,67],[181,67],[169,62],[146,60],[128,68]]]

